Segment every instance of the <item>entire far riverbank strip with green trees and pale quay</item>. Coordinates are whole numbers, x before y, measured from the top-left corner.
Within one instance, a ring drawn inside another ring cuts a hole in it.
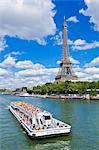
[[[46,83],[33,88],[17,88],[15,90],[0,89],[0,93],[33,96],[53,99],[95,99],[99,100],[99,81]],[[24,95],[28,93],[28,95]]]

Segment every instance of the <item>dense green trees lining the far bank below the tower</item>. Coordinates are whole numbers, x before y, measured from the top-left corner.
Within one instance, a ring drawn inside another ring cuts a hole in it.
[[[42,86],[33,87],[34,94],[70,94],[77,93],[79,95],[96,95],[99,89],[99,81],[93,82],[72,82],[65,81],[59,83],[46,83]]]

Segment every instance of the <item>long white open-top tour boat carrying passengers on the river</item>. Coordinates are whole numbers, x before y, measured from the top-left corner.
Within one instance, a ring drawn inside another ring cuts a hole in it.
[[[55,119],[51,113],[26,102],[11,102],[9,110],[32,138],[69,134],[71,126]]]

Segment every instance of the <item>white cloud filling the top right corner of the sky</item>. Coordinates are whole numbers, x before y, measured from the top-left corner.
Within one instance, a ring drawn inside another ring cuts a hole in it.
[[[94,23],[94,30],[99,31],[99,0],[84,0],[87,9],[79,10],[85,16],[89,16],[90,23]]]

